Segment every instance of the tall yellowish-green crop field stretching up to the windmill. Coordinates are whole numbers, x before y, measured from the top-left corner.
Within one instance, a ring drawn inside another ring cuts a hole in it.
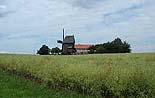
[[[0,54],[0,68],[50,88],[97,98],[155,98],[155,53]]]

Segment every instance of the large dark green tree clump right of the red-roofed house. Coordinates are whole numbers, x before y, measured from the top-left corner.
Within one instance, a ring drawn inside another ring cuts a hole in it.
[[[130,44],[126,41],[122,42],[120,38],[116,38],[112,42],[97,44],[89,48],[90,53],[130,53]]]

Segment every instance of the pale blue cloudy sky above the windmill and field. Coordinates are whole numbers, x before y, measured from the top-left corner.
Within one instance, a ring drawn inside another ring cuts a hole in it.
[[[120,37],[132,52],[155,52],[155,0],[0,0],[0,52],[60,46],[63,28],[76,43]]]

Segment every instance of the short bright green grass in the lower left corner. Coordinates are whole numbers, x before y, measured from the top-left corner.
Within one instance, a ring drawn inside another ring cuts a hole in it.
[[[0,98],[88,98],[75,92],[56,91],[0,69]]]

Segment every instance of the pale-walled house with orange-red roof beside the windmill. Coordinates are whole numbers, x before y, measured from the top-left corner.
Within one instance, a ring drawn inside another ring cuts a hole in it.
[[[76,49],[76,54],[87,54],[91,46],[90,44],[76,44],[74,48]]]

